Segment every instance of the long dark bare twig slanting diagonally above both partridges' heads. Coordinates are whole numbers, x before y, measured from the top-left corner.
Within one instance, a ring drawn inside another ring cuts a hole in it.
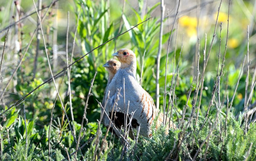
[[[86,55],[90,54],[92,51],[94,51],[94,50],[100,48],[101,46],[103,46],[103,45],[105,45],[106,43],[112,41],[113,39],[115,39],[115,38],[117,38],[117,37],[119,37],[119,36],[121,36],[121,35],[123,35],[123,34],[129,32],[129,31],[131,31],[133,28],[139,26],[140,24],[142,24],[142,23],[148,21],[148,20],[151,19],[151,18],[152,18],[152,17],[150,17],[150,18],[148,18],[148,19],[146,19],[146,20],[140,22],[139,24],[137,24],[137,25],[135,25],[134,27],[130,28],[129,30],[123,32],[122,34],[119,34],[119,35],[117,35],[117,36],[115,36],[115,37],[109,39],[108,41],[102,43],[101,45],[97,46],[96,48],[92,49],[91,51],[89,51],[88,53],[86,53],[85,55],[83,55],[82,57],[76,59],[76,61],[74,61],[73,63],[71,63],[70,65],[68,65],[68,67],[74,65],[76,62],[78,62],[79,60],[81,60],[82,58],[84,58]],[[31,41],[32,41],[32,40],[31,40]],[[31,42],[30,42],[30,43],[31,43]],[[53,76],[53,78],[55,78],[56,76],[58,76],[60,73],[64,72],[68,67],[65,67],[65,68],[62,69],[59,73],[55,74],[55,75]],[[19,101],[17,101],[15,104],[12,104],[10,107],[8,107],[6,110],[4,110],[4,111],[0,114],[0,116],[2,116],[6,111],[8,111],[9,109],[11,109],[13,106],[16,106],[17,104],[19,104],[20,101],[22,101],[24,98],[26,98],[26,97],[29,96],[31,93],[33,93],[36,89],[38,89],[38,88],[40,88],[41,86],[43,86],[45,83],[51,81],[53,78],[52,78],[52,77],[49,78],[47,81],[44,81],[44,83],[40,84],[40,85],[37,86],[35,89],[33,89],[32,91],[30,91],[27,95],[23,96],[23,97],[22,97]],[[0,99],[0,100],[1,100],[1,99]]]

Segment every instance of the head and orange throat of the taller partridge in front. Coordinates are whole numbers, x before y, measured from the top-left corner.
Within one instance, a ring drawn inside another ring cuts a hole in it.
[[[129,66],[136,66],[136,56],[130,49],[120,49],[113,56],[121,62],[121,68],[126,68]]]

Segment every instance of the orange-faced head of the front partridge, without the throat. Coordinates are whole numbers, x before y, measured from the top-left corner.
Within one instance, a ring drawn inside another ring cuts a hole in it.
[[[120,49],[113,56],[117,57],[121,63],[131,64],[132,61],[136,61],[136,56],[130,49]]]

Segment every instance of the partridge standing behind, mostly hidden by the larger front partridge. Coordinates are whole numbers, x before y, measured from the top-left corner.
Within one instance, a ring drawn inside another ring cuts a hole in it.
[[[105,97],[106,97],[108,85],[112,81],[112,79],[115,76],[117,70],[120,68],[120,65],[121,65],[121,63],[118,60],[115,60],[115,59],[110,59],[110,60],[108,60],[108,62],[106,64],[103,65],[103,67],[105,67],[108,71],[108,83],[107,83],[107,87],[106,87],[105,92],[104,92],[104,96],[103,96],[103,100],[102,100],[102,106],[105,105]],[[101,108],[101,113],[103,114],[102,123],[105,127],[108,127],[109,119],[106,117],[102,108]]]

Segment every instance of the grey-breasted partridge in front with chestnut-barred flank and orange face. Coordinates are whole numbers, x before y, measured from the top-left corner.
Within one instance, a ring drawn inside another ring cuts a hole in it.
[[[120,91],[117,106],[114,108],[116,112],[115,124],[118,128],[124,127],[124,113],[127,113],[128,101],[130,101],[128,115],[132,118],[132,128],[138,130],[140,126],[140,134],[150,137],[151,125],[156,117],[156,107],[152,97],[145,91],[136,80],[137,60],[132,50],[120,49],[113,54],[121,63],[120,69],[110,82],[107,91],[110,91],[110,100],[106,106],[106,112],[111,115],[113,104],[115,103],[118,89]],[[125,108],[124,108],[124,80],[125,80]],[[105,98],[106,101],[106,98]],[[127,124],[130,122],[128,117]]]

